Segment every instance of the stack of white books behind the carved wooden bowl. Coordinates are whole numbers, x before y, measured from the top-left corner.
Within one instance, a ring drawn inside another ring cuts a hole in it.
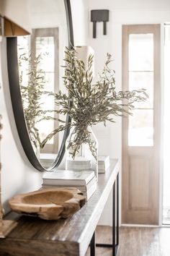
[[[57,170],[50,174],[45,174],[42,178],[42,189],[56,187],[76,187],[83,192],[86,200],[89,200],[97,189],[97,180],[96,176],[94,176],[94,171]]]

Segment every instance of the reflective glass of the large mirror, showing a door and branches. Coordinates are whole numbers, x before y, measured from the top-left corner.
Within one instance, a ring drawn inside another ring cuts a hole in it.
[[[62,134],[57,134],[42,148],[59,125],[54,93],[63,90],[63,64],[68,46],[66,10],[63,0],[30,0],[32,33],[17,38],[19,86],[27,131],[32,148],[44,168],[50,168],[58,155]]]

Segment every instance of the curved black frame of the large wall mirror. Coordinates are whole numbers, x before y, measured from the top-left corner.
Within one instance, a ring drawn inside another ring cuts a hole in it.
[[[71,15],[71,3],[70,0],[63,0],[66,9],[66,20],[68,27],[68,48],[73,47],[73,22]],[[38,161],[37,156],[32,148],[30,142],[30,136],[27,131],[27,124],[24,119],[24,111],[22,106],[22,97],[19,87],[19,70],[18,70],[18,59],[17,59],[17,37],[6,38],[6,51],[7,51],[7,67],[8,67],[8,76],[9,76],[9,89],[12,99],[12,108],[14,111],[14,119],[17,126],[17,131],[19,134],[19,139],[22,143],[22,148],[24,153],[27,155],[30,163],[38,171],[53,171],[56,167],[59,166],[63,159],[65,153],[65,143],[66,138],[69,134],[69,129],[66,129],[63,134],[63,140],[61,143],[61,148],[58,152],[57,158],[55,159],[53,166],[45,169]],[[66,116],[66,122],[70,122],[70,116]]]

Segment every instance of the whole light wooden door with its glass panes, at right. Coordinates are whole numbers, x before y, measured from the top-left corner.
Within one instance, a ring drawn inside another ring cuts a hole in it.
[[[122,120],[122,223],[158,224],[160,25],[122,26],[122,74],[123,90],[149,95]]]

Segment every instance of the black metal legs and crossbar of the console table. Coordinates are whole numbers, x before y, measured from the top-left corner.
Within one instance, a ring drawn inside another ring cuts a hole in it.
[[[116,185],[116,186],[115,186]],[[115,189],[116,187],[116,189]],[[116,193],[117,192],[117,193]],[[90,242],[90,255],[95,256],[96,247],[112,248],[112,256],[116,256],[119,247],[119,173],[112,187],[112,244],[96,244],[95,231]]]

